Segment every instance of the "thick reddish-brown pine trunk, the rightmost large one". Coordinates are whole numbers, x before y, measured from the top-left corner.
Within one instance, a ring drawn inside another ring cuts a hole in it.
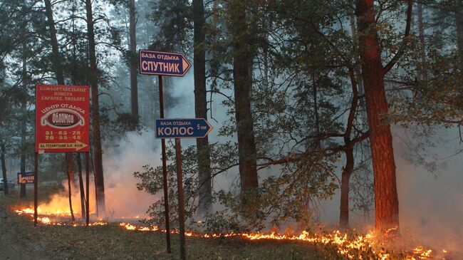
[[[375,226],[378,231],[399,227],[399,200],[390,125],[381,122],[387,113],[384,69],[373,0],[357,1],[357,23],[363,86],[370,128],[370,150],[375,177]]]

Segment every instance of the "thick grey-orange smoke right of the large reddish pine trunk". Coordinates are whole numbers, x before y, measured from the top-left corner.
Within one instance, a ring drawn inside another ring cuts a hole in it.
[[[437,171],[406,160],[412,153],[395,131],[395,161],[402,233],[437,249],[463,253],[463,153],[455,130],[440,129],[428,147],[436,155]],[[397,138],[399,137],[399,138]],[[430,158],[427,158],[431,160]]]

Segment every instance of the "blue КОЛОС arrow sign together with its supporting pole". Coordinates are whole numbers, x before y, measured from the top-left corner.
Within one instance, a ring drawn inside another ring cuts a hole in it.
[[[180,259],[186,259],[185,250],[185,220],[184,220],[184,192],[182,175],[182,145],[180,138],[202,138],[212,130],[204,118],[169,118],[155,121],[155,137],[175,138],[175,157],[177,162],[177,192],[179,202],[179,227],[180,227]]]

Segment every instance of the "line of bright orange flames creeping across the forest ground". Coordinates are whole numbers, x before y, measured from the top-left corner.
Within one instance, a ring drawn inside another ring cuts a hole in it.
[[[16,214],[25,214],[29,217],[33,215],[33,209],[31,208],[24,208],[24,209],[16,209]],[[44,225],[55,225],[55,226],[72,226],[72,227],[84,227],[85,224],[80,224],[78,222],[69,223],[60,220],[60,218],[56,219],[56,217],[69,217],[70,212],[66,212],[63,210],[55,210],[52,213],[46,213],[39,211],[41,217],[38,217],[38,222]],[[140,217],[138,217],[140,218]],[[56,219],[56,220],[55,220]],[[125,217],[125,219],[137,219]],[[104,222],[102,220],[98,220],[96,222],[90,223],[90,226],[98,226],[98,225],[107,225],[108,222]],[[165,229],[160,229],[160,227],[152,226],[139,226],[136,224],[132,224],[129,222],[121,222],[118,224],[121,228],[128,230],[128,231],[138,231],[138,232],[165,232]],[[172,234],[178,234],[179,231],[177,229],[171,230]],[[185,236],[194,236],[194,237],[202,237],[204,239],[214,239],[219,237],[237,237],[242,239],[249,239],[249,240],[285,240],[285,241],[303,241],[311,244],[320,244],[320,245],[332,245],[335,246],[338,253],[348,257],[349,259],[354,259],[359,255],[359,252],[363,251],[371,251],[373,254],[378,257],[378,259],[391,259],[391,253],[389,251],[385,251],[384,248],[387,248],[384,242],[381,241],[375,232],[368,232],[365,235],[359,236],[349,236],[348,234],[343,234],[339,230],[334,230],[328,233],[310,233],[303,231],[301,234],[298,235],[288,235],[288,234],[278,234],[276,232],[271,233],[221,233],[221,234],[204,234],[200,232],[185,232]],[[418,260],[418,259],[447,259],[448,252],[446,250],[442,250],[439,254],[435,254],[434,251],[431,249],[425,249],[423,246],[416,246],[412,249],[400,249],[400,259],[406,260]],[[361,259],[361,257],[360,257]],[[394,258],[397,259],[397,256]]]

